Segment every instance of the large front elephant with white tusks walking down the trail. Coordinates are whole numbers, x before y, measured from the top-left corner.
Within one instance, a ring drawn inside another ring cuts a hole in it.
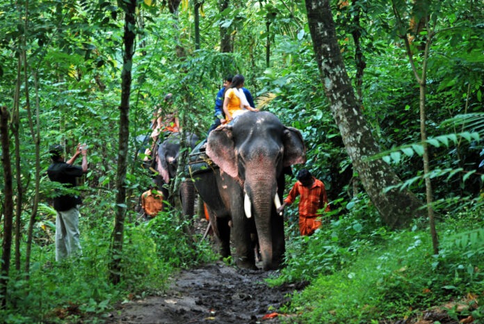
[[[230,255],[232,223],[237,266],[256,268],[251,236],[257,234],[263,269],[279,268],[285,241],[277,206],[284,193],[284,170],[306,162],[300,131],[285,127],[273,113],[248,111],[211,131],[205,154],[211,161],[200,163],[204,154],[194,152],[189,169],[209,209],[220,254]]]

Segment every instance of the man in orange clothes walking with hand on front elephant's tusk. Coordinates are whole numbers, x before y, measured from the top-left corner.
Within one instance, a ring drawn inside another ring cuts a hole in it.
[[[302,169],[298,172],[298,181],[294,184],[284,203],[277,209],[280,213],[288,204],[292,204],[300,195],[299,201],[299,232],[301,235],[312,235],[316,229],[321,227],[321,220],[318,219],[318,210],[330,211],[328,196],[321,180],[314,178],[311,173]]]

